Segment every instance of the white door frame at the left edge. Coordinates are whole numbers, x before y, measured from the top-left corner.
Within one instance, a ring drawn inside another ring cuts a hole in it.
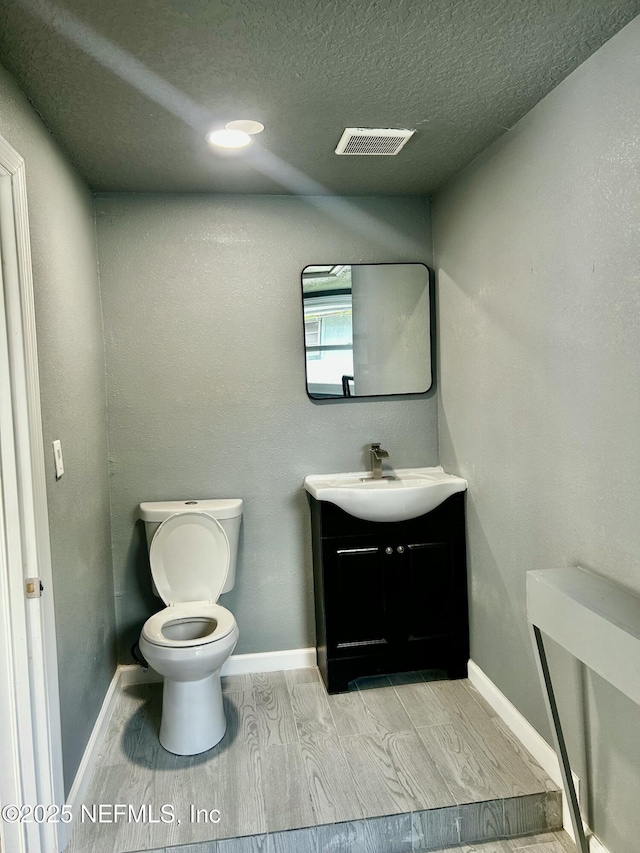
[[[25,164],[0,136],[0,805],[65,802],[53,578]],[[53,456],[52,456],[53,461]],[[26,596],[26,579],[43,591]],[[1,825],[4,849],[58,853],[67,825]]]

